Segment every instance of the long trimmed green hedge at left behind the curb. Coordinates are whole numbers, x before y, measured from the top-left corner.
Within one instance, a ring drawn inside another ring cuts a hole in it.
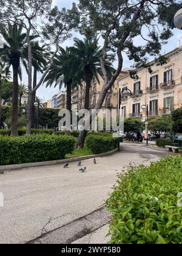
[[[76,139],[70,136],[1,136],[0,165],[59,160],[72,153],[75,142]]]

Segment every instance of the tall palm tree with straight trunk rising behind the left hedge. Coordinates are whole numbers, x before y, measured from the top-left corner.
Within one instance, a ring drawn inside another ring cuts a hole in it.
[[[18,76],[21,79],[21,65],[26,59],[26,34],[22,32],[22,24],[8,24],[8,28],[0,26],[0,33],[5,40],[0,48],[1,59],[8,67],[13,67],[13,105],[12,105],[12,136],[18,136]],[[31,36],[30,40],[36,37]]]

